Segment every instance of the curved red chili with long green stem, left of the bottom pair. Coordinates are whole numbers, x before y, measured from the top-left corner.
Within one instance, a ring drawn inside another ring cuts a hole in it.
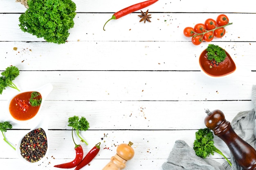
[[[77,145],[75,143],[74,137],[73,137],[73,129],[72,129],[72,139],[75,144],[76,158],[71,162],[55,165],[54,167],[56,167],[56,168],[74,168],[77,165],[79,165],[79,163],[81,163],[81,161],[83,160],[83,148],[81,145]]]

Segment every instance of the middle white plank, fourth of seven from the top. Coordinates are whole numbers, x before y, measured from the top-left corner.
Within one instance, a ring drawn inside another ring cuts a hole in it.
[[[251,100],[255,74],[213,79],[201,72],[25,71],[13,83],[21,90],[52,83],[47,100]],[[7,88],[0,100],[16,92]]]

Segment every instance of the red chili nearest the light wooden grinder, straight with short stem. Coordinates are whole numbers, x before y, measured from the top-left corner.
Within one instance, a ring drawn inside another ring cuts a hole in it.
[[[80,170],[85,165],[90,163],[94,157],[99,153],[101,142],[97,143],[91,150],[88,152],[88,154],[83,158],[81,163],[79,163],[78,166],[76,166],[75,170]]]

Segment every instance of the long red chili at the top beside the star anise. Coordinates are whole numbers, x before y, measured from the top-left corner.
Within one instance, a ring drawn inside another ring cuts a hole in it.
[[[117,20],[118,18],[123,17],[124,15],[132,13],[132,12],[137,11],[139,9],[148,7],[149,5],[151,5],[151,4],[153,4],[157,1],[158,0],[147,0],[147,1],[144,1],[144,2],[140,2],[138,4],[134,4],[130,7],[125,8],[125,9],[121,9],[120,11],[114,13],[114,15],[112,15],[112,17],[104,24],[103,30],[105,31],[104,27],[110,20]]]

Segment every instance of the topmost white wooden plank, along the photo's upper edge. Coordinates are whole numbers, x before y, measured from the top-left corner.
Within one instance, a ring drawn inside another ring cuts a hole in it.
[[[0,13],[23,13],[26,8],[15,0],[2,0],[0,6]],[[143,0],[129,0],[127,2],[121,2],[119,0],[73,0],[76,4],[76,12],[108,12],[115,13],[123,8],[126,8],[132,4],[143,2]],[[189,4],[189,5],[188,5]],[[220,5],[221,4],[221,5]],[[234,4],[234,5],[232,5]],[[232,8],[231,8],[232,6]],[[177,0],[177,1],[161,1],[159,0],[150,7],[150,11],[156,12],[197,12],[197,13],[209,13],[217,12],[222,13],[254,13],[254,4],[251,0],[232,1],[232,0],[215,0],[214,4],[208,5],[206,2],[202,3],[200,0],[194,0],[193,4],[189,0]],[[111,14],[110,14],[111,16]]]

